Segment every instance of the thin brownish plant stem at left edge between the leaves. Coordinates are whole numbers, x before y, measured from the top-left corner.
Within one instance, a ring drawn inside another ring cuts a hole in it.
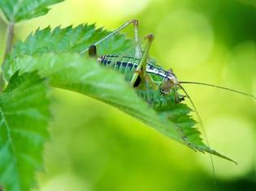
[[[6,49],[5,49],[4,55],[3,55],[2,68],[3,68],[3,65],[5,63],[5,60],[7,58],[8,53],[10,53],[10,51],[11,51],[13,35],[14,35],[14,23],[8,23],[8,27],[7,27],[7,45],[6,45]],[[2,91],[4,85],[5,85],[5,82],[4,82],[2,73],[1,73],[1,77],[0,77],[0,91]]]

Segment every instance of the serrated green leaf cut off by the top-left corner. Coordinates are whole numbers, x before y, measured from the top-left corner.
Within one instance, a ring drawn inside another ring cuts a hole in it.
[[[1,0],[0,8],[7,20],[17,23],[24,19],[46,15],[50,10],[48,6],[63,0]]]

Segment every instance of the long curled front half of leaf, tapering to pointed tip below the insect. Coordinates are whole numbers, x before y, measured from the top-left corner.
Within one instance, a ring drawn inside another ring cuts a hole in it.
[[[98,66],[98,62],[87,57],[76,53],[16,57],[5,70],[7,78],[16,70],[38,70],[39,74],[50,79],[53,87],[77,91],[111,104],[195,151],[206,151],[228,159],[202,142],[199,131],[194,127],[195,121],[189,116],[191,110],[187,105],[176,104],[173,96],[166,99],[166,104],[147,104],[124,81],[122,74]],[[148,95],[157,96],[154,94]],[[154,99],[150,98],[150,101]]]

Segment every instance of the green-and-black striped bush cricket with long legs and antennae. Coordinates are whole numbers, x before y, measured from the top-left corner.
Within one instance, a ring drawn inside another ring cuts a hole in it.
[[[126,28],[128,25],[133,24],[134,30],[134,42],[135,42],[135,52],[133,57],[120,56],[120,55],[101,55],[98,56],[96,46],[103,41],[111,38],[123,28]],[[187,91],[185,91],[184,87],[181,84],[183,83],[193,83],[198,85],[204,85],[208,87],[216,87],[220,89],[224,89],[227,91],[233,91],[239,93],[244,96],[250,96],[256,99],[255,96],[247,94],[245,92],[236,91],[227,87],[219,87],[208,83],[196,83],[196,82],[183,82],[176,78],[176,74],[174,74],[173,70],[163,70],[161,66],[157,66],[153,60],[149,57],[150,45],[154,36],[152,34],[145,36],[146,44],[145,48],[142,51],[141,45],[139,43],[138,38],[138,21],[136,19],[129,20],[124,23],[122,26],[117,28],[114,32],[111,32],[107,36],[103,37],[101,40],[98,40],[93,45],[90,45],[89,48],[85,49],[80,53],[89,53],[89,57],[94,57],[98,60],[98,63],[111,67],[114,70],[119,70],[124,74],[125,79],[131,83],[132,87],[137,89],[138,94],[147,100],[149,103],[153,103],[153,105],[157,104],[167,104],[169,100],[175,102],[176,104],[183,101],[186,97],[189,99],[190,103],[193,106],[194,111],[197,114],[199,122],[202,125],[202,120],[197,112],[197,108],[195,104],[193,104],[193,100],[190,98]],[[178,93],[178,90],[181,89],[184,92],[184,96]],[[150,90],[150,91],[148,91]],[[156,96],[156,97],[155,97]],[[174,99],[173,99],[174,98]],[[205,133],[204,133],[205,134]],[[183,138],[184,142],[189,146],[189,142],[186,142],[185,138]],[[206,142],[207,138],[206,138]]]

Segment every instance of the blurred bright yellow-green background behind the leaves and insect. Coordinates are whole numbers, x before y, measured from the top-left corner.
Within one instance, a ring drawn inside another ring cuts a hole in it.
[[[151,57],[171,67],[178,79],[256,95],[255,0],[67,0],[46,16],[19,23],[15,39],[48,25],[88,22],[114,30],[128,19],[139,19],[141,37],[155,35]],[[5,30],[0,21],[1,52]],[[132,37],[132,27],[124,33]],[[237,166],[214,157],[213,178],[209,155],[109,105],[53,89],[52,138],[35,190],[256,190],[256,102],[210,87],[184,87],[202,116],[210,146]]]

